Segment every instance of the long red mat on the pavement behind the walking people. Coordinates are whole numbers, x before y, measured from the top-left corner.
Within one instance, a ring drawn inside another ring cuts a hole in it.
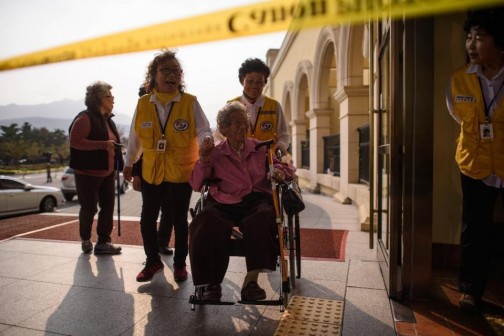
[[[0,227],[7,224],[7,227],[15,228],[14,231],[17,233],[12,234],[13,230],[10,230],[8,232],[11,234],[6,235],[0,228],[0,240],[29,232],[28,234],[22,234],[22,237],[80,241],[77,216],[30,215],[2,220],[1,224]],[[64,225],[57,226],[57,224]],[[97,240],[95,228],[96,220],[93,223],[92,241]],[[118,223],[114,221],[114,231],[112,233],[112,242],[114,244],[143,245],[139,221],[121,220],[121,236],[118,237],[117,234]],[[347,234],[347,230],[301,229],[301,256],[310,259],[344,261]],[[170,241],[171,247],[173,247],[173,241],[174,239]]]

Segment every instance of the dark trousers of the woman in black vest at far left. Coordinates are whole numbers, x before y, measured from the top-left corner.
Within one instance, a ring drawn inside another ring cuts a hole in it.
[[[98,243],[110,243],[114,228],[115,187],[114,174],[106,177],[75,174],[75,187],[79,198],[79,233],[82,240],[91,239],[93,218],[98,211]]]

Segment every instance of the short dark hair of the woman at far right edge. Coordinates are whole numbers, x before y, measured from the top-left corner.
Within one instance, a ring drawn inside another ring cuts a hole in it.
[[[490,34],[495,44],[504,48],[504,6],[485,8],[467,12],[467,19],[464,22],[464,30],[469,32],[471,27],[483,28]]]

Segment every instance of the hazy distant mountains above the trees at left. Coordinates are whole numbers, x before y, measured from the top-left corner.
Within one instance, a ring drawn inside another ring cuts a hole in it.
[[[10,126],[25,122],[34,128],[45,127],[49,131],[61,129],[68,133],[68,127],[78,112],[85,109],[83,100],[60,100],[40,105],[0,105],[0,125]],[[114,122],[123,134],[128,134],[131,117],[124,114],[116,114]]]

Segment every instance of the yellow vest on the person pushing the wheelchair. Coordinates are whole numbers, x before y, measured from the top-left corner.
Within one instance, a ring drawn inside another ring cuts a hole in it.
[[[230,101],[241,101],[241,97],[236,97]],[[259,109],[256,123],[252,125],[252,128],[249,128],[247,137],[260,141],[276,140],[278,102],[266,96],[264,98],[264,105]]]

